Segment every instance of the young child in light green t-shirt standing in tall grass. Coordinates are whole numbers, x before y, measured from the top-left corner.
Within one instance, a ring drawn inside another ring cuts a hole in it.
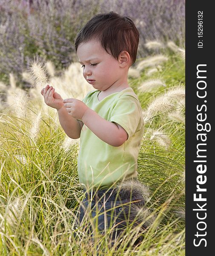
[[[77,224],[86,217],[87,208],[92,210],[97,205],[104,213],[104,209],[114,207],[115,224],[120,230],[117,236],[128,219],[135,219],[128,204],[145,204],[137,180],[143,117],[138,97],[127,81],[138,43],[138,29],[128,17],[114,12],[95,15],[75,38],[83,76],[95,90],[83,101],[63,100],[49,85],[41,90],[46,104],[57,109],[66,134],[73,139],[80,137],[77,170],[87,198],[81,202]],[[98,218],[100,231],[114,225],[112,214],[106,216]]]

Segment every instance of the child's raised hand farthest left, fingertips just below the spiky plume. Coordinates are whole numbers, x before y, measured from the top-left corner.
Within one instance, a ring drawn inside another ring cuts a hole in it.
[[[56,93],[54,91],[54,88],[52,86],[49,86],[47,84],[40,93],[43,95],[44,101],[49,107],[56,108],[57,110],[63,107],[62,97],[59,93]]]

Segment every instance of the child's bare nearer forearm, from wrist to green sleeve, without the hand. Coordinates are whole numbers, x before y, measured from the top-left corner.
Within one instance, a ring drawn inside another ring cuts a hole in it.
[[[90,108],[84,112],[81,120],[97,137],[114,147],[119,147],[128,138],[120,125],[103,119]]]

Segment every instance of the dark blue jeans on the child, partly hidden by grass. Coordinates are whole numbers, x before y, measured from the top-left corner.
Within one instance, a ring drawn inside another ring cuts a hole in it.
[[[91,237],[93,237],[95,229],[101,234],[107,229],[112,229],[110,239],[114,244],[115,239],[122,237],[123,231],[129,224],[132,224],[132,227],[139,224],[135,219],[137,215],[135,207],[141,209],[145,205],[145,200],[140,192],[120,191],[112,188],[97,192],[86,192],[84,189],[84,193],[86,198],[83,199],[77,210],[75,224],[77,227],[82,226],[83,230]],[[140,230],[144,231],[145,228],[142,225]],[[142,239],[143,236],[138,237],[135,244],[140,243]]]

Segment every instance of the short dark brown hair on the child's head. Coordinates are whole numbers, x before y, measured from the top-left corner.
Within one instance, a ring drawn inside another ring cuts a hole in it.
[[[139,31],[134,22],[115,12],[101,13],[92,17],[75,38],[75,52],[80,43],[99,41],[103,49],[118,60],[121,51],[127,51],[135,63],[139,44]]]

